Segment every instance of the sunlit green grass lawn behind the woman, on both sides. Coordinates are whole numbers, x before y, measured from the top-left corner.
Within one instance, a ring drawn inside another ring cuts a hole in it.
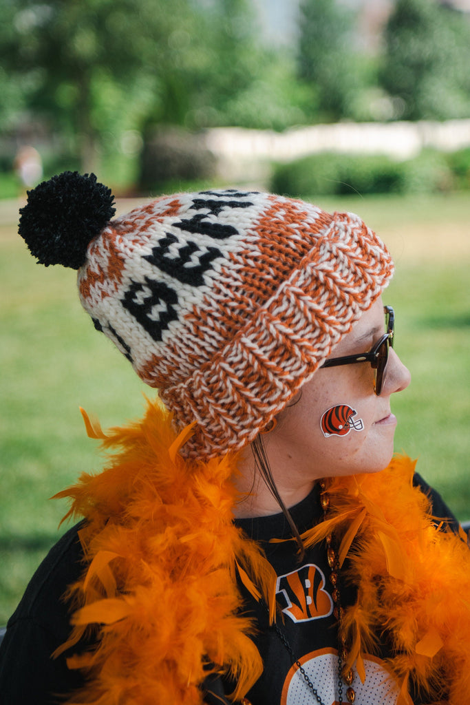
[[[397,274],[396,350],[412,370],[397,395],[396,444],[459,518],[470,518],[469,195],[323,200],[361,214],[389,243]],[[144,387],[82,311],[75,273],[37,266],[13,226],[0,227],[0,624],[61,533],[49,500],[83,470],[99,470],[78,406],[103,427],[142,414]]]

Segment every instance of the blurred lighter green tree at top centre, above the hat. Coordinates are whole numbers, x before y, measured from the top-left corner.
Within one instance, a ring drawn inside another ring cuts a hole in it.
[[[165,95],[149,124],[283,129],[304,122],[290,56],[261,45],[252,1],[197,0],[195,7],[192,32],[168,40]]]

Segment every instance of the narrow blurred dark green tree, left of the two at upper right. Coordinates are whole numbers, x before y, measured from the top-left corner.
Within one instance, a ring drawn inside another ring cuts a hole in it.
[[[298,68],[311,86],[312,116],[328,121],[354,117],[363,83],[355,18],[351,8],[335,0],[300,3]]]

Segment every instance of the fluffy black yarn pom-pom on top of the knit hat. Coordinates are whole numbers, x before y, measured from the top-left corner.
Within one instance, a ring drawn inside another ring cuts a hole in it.
[[[116,213],[113,203],[94,174],[64,171],[28,191],[18,233],[40,264],[79,269],[89,243]]]

